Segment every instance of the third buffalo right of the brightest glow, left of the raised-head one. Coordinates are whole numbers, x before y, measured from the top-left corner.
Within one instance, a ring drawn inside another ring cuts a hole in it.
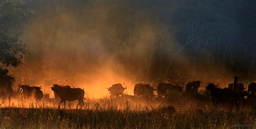
[[[183,87],[170,83],[159,83],[157,86],[158,97],[168,97],[170,94],[181,94]]]

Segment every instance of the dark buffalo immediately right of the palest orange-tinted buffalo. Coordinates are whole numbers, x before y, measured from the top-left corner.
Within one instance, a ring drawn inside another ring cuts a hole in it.
[[[152,88],[149,84],[143,84],[143,83],[138,83],[134,85],[134,96],[139,97],[139,96],[145,96],[152,98],[154,96],[154,91],[156,89]]]

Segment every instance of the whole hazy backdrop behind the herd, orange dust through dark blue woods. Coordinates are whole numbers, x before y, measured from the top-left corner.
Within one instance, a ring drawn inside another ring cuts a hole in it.
[[[36,14],[23,26],[31,55],[13,70],[18,80],[69,78],[98,96],[157,78],[254,81],[255,1],[26,3]]]

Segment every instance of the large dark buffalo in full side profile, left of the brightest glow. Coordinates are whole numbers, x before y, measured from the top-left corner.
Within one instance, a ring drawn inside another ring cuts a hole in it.
[[[60,97],[58,109],[60,109],[60,104],[64,103],[64,109],[66,107],[66,101],[78,101],[76,108],[80,105],[80,109],[84,106],[84,90],[80,88],[67,88],[62,87],[62,85],[53,84],[51,90]]]

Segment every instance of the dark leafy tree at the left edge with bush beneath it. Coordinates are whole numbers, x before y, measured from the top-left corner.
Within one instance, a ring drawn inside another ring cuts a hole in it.
[[[8,75],[8,69],[22,63],[23,55],[29,54],[24,42],[19,39],[23,20],[32,10],[26,8],[22,0],[0,0],[0,94],[2,97],[12,94],[15,78]]]

